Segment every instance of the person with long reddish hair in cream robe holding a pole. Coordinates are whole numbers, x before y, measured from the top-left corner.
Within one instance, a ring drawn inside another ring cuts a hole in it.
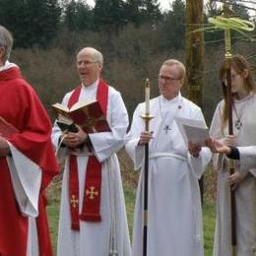
[[[224,99],[218,104],[210,128],[210,135],[227,148],[256,145],[255,82],[249,63],[241,55],[230,58],[233,135],[228,135],[226,94],[226,66],[220,69]],[[239,149],[239,148],[238,148]],[[241,167],[234,160],[234,173],[228,171],[228,160],[223,151],[214,154],[217,170],[217,221],[214,255],[231,256],[230,189],[235,197],[235,232],[237,256],[253,256],[256,251],[256,178],[255,169]],[[230,153],[230,152],[229,152]],[[243,158],[243,161],[247,159]],[[246,164],[245,164],[246,165]],[[244,164],[243,164],[244,166]]]

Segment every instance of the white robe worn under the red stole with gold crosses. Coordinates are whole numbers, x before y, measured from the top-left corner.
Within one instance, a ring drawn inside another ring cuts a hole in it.
[[[96,81],[90,87],[82,87],[80,100],[96,99]],[[67,105],[71,93],[63,99],[63,104]],[[69,157],[67,156],[60,206],[60,221],[58,233],[59,256],[92,256],[108,255],[110,240],[110,216],[115,219],[115,238],[117,240],[117,250],[119,256],[130,256],[130,239],[126,219],[125,203],[119,163],[115,153],[123,146],[124,136],[128,126],[128,115],[120,94],[112,87],[108,90],[107,103],[107,121],[110,125],[111,132],[101,132],[89,134],[93,144],[96,158],[102,163],[102,180],[101,180],[101,201],[100,215],[101,222],[80,222],[80,231],[71,229],[70,207],[69,207]],[[60,130],[54,126],[52,140],[55,146],[58,145]],[[78,173],[79,173],[79,196],[84,197],[86,166],[88,157],[79,156]],[[111,172],[109,184],[109,171]],[[109,188],[111,195],[109,194]],[[112,197],[110,201],[109,197]],[[114,202],[114,210],[110,211],[110,204]],[[79,211],[82,211],[83,200],[79,202]]]

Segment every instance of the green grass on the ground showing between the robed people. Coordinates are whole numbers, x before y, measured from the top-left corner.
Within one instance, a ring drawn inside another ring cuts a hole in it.
[[[52,245],[54,252],[56,251],[57,232],[58,232],[58,216],[59,216],[59,191],[60,186],[51,187],[49,190],[49,205],[47,207],[48,219],[50,225],[50,232],[52,238]],[[135,203],[135,189],[130,189],[124,186],[125,202],[127,210],[127,218],[130,233],[133,225],[133,211]],[[205,256],[212,256],[213,254],[213,237],[215,225],[215,207],[213,205],[204,204],[204,240],[205,240]]]

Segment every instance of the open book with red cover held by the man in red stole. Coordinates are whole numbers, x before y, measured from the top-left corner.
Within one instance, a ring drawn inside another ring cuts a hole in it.
[[[61,103],[52,105],[57,114],[56,123],[62,131],[77,132],[75,124],[87,133],[111,131],[97,100],[78,101],[70,109]]]

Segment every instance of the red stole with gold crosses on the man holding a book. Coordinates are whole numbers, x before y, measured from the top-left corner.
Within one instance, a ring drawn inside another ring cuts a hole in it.
[[[69,98],[68,107],[70,108],[79,100],[82,86],[77,87]],[[106,115],[108,86],[99,80],[96,99],[98,100],[104,115]],[[69,161],[69,197],[71,228],[80,229],[79,220],[86,222],[100,222],[100,190],[101,190],[101,163],[95,156],[90,156],[87,163],[87,174],[85,179],[85,190],[83,198],[82,213],[79,216],[79,180],[77,157],[70,156]]]

